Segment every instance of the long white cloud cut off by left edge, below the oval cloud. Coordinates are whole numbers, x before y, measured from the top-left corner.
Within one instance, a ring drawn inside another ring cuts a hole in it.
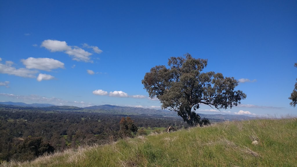
[[[12,67],[12,65],[13,65],[12,61],[6,61],[5,64],[0,63],[0,73],[16,75],[16,76],[26,77],[26,78],[35,78],[33,74],[36,74],[38,72],[36,70],[29,70],[26,68],[16,69],[15,67]]]

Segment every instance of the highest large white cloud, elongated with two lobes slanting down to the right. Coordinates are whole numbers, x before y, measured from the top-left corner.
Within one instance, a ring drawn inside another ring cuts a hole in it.
[[[65,41],[44,40],[41,44],[41,47],[45,47],[51,52],[64,52],[69,56],[72,56],[72,60],[76,60],[78,62],[93,62],[90,60],[92,53],[77,46],[69,46]]]

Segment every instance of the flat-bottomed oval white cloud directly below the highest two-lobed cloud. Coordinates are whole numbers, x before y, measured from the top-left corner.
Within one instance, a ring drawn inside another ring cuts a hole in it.
[[[49,59],[49,58],[33,58],[29,57],[28,59],[21,59],[21,62],[28,69],[38,69],[50,71],[52,69],[64,68],[64,63],[59,60]]]

